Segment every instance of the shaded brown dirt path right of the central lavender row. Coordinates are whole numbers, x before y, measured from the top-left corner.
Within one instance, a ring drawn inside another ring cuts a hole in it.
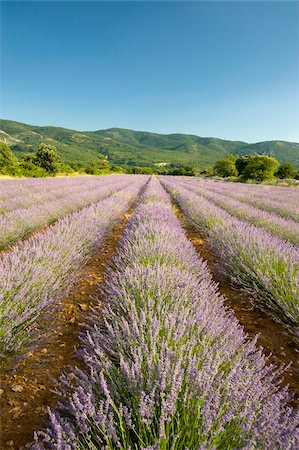
[[[270,362],[281,366],[291,366],[283,374],[281,384],[288,384],[295,397],[290,402],[299,406],[299,349],[294,336],[282,324],[276,322],[271,312],[257,306],[256,300],[241,289],[234,289],[228,278],[221,274],[218,258],[209,248],[208,241],[195,231],[187,222],[180,207],[175,204],[178,218],[199,255],[207,262],[214,281],[218,283],[219,292],[225,296],[225,304],[233,310],[245,332],[253,337],[260,333],[258,345],[264,348]]]

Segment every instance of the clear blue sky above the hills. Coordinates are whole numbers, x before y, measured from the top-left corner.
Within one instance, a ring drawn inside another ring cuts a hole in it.
[[[299,2],[2,2],[2,118],[299,142]]]

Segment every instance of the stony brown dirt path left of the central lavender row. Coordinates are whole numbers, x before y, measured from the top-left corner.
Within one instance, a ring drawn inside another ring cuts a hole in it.
[[[135,208],[136,204],[122,216],[105,244],[81,270],[79,281],[56,313],[51,336],[1,375],[1,450],[22,449],[32,441],[34,431],[47,424],[47,407],[57,404],[58,397],[51,391],[55,380],[68,365],[81,365],[76,357],[79,324],[94,305],[107,265]]]

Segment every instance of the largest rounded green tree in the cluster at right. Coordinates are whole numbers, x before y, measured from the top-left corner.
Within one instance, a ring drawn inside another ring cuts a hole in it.
[[[264,181],[275,178],[274,172],[279,166],[277,159],[270,156],[254,155],[249,158],[249,161],[242,172],[244,180]]]

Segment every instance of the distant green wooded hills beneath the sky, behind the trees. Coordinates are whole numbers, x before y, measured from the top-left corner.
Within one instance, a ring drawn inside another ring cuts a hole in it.
[[[66,163],[87,164],[96,160],[98,153],[103,153],[111,163],[119,165],[167,163],[204,167],[213,165],[227,153],[261,153],[299,167],[299,144],[285,141],[248,144],[189,134],[158,134],[122,128],[82,132],[26,125],[11,120],[0,120],[0,140],[6,141],[17,155],[35,151],[40,142],[51,143]]]

